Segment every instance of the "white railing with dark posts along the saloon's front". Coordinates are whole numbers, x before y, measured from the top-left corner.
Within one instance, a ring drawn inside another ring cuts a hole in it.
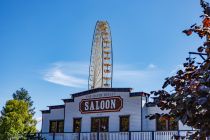
[[[37,133],[28,140],[189,140],[194,131]],[[179,138],[177,136],[180,136]],[[210,138],[206,138],[210,140]]]

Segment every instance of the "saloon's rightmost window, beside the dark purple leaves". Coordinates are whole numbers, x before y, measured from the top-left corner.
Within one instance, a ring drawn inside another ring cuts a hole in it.
[[[164,118],[160,117],[156,120],[157,131],[169,131],[169,130],[178,130],[178,123],[174,118]]]

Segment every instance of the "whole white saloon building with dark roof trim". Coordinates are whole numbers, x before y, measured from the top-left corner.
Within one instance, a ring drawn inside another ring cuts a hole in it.
[[[131,88],[96,88],[72,94],[63,105],[42,110],[42,133],[146,132],[192,130],[172,119],[149,120],[161,112],[146,106],[149,94]],[[174,125],[172,125],[174,123]],[[68,136],[69,137],[69,136]]]

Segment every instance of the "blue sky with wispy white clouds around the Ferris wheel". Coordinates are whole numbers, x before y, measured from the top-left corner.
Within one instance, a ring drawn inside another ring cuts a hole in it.
[[[97,20],[111,27],[113,87],[160,89],[201,44],[199,0],[0,0],[0,108],[24,87],[39,110],[87,90]]]

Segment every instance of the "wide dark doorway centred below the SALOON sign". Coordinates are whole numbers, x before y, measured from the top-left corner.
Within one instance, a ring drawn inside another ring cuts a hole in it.
[[[91,118],[91,132],[108,132],[108,131],[109,131],[108,117]]]

